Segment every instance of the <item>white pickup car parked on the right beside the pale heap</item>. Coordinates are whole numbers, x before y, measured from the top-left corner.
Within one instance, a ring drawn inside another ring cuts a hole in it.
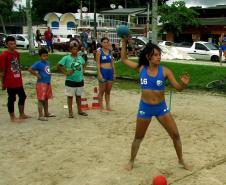
[[[219,49],[210,42],[198,41],[193,44],[180,45],[177,48],[198,60],[219,61]]]

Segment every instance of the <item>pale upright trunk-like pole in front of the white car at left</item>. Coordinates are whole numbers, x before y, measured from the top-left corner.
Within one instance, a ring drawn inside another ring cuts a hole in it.
[[[34,47],[34,35],[32,31],[32,19],[31,19],[31,2],[26,0],[26,17],[27,17],[27,30],[28,30],[28,39],[29,39],[29,54],[35,54]]]

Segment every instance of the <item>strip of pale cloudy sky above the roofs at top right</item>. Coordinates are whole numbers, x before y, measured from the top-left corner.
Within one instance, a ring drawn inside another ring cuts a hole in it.
[[[169,0],[167,4],[171,4],[174,1],[179,0]],[[210,7],[216,5],[226,5],[226,0],[184,0],[187,7],[191,6],[202,6],[202,7]]]

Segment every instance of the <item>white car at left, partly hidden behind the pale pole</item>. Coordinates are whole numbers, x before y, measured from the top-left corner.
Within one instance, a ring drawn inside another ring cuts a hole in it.
[[[10,34],[10,36],[15,37],[17,48],[29,49],[29,40],[27,34]],[[46,45],[47,45],[46,42],[42,41],[41,46],[45,47]],[[38,48],[38,43],[35,41],[35,36],[34,36],[34,47]]]

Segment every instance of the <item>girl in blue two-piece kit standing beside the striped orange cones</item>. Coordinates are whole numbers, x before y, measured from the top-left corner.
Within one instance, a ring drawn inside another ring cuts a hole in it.
[[[108,112],[111,110],[110,94],[112,89],[112,82],[115,79],[115,68],[113,63],[112,52],[109,49],[109,39],[103,37],[101,39],[102,47],[97,50],[96,64],[99,81],[99,104],[101,112]],[[105,95],[106,109],[103,106],[103,96]]]

